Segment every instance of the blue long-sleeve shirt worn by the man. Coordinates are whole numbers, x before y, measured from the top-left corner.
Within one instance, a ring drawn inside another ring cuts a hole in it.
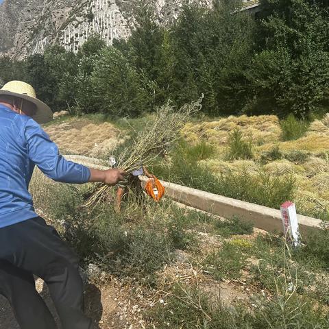
[[[36,217],[28,187],[35,165],[57,182],[88,182],[90,170],[65,160],[33,119],[0,104],[0,228]]]

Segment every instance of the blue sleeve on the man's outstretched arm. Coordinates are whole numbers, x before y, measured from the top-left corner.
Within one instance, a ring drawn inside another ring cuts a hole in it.
[[[33,119],[25,125],[25,138],[29,159],[56,182],[83,184],[90,178],[90,170],[82,164],[65,160],[42,127]]]

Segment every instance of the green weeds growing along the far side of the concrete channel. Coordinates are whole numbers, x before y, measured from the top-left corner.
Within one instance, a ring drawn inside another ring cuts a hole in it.
[[[169,182],[270,208],[278,209],[280,204],[295,195],[295,178],[292,175],[271,176],[263,170],[253,174],[244,169],[227,171],[219,177],[197,162],[186,162],[178,154],[173,155],[170,164],[162,162],[153,171]]]

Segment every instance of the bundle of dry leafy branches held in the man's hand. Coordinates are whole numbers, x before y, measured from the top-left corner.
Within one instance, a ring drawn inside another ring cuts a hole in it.
[[[153,120],[138,132],[130,147],[117,156],[117,168],[128,173],[138,170],[141,166],[149,166],[161,154],[164,154],[175,141],[180,138],[180,130],[193,114],[201,109],[202,98],[175,110],[170,103],[158,108]],[[111,186],[101,184],[89,197],[85,206],[94,208],[99,202],[107,199]]]

